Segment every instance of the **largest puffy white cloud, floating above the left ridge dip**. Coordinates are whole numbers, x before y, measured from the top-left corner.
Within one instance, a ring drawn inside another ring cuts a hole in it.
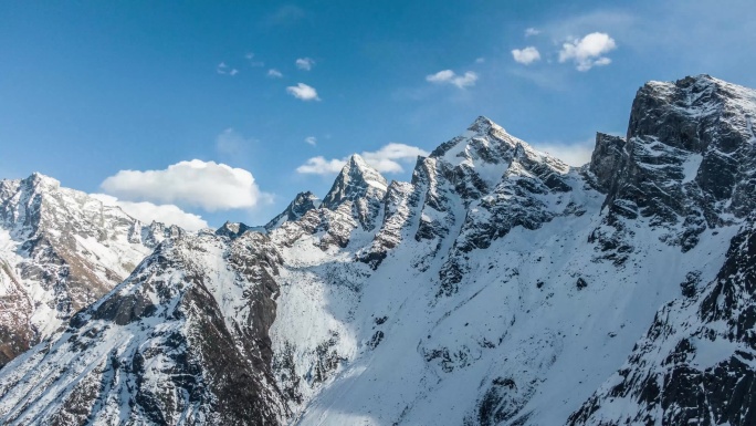
[[[180,162],[164,170],[120,170],[101,188],[126,201],[200,207],[208,211],[255,207],[267,199],[248,170],[214,162]]]

